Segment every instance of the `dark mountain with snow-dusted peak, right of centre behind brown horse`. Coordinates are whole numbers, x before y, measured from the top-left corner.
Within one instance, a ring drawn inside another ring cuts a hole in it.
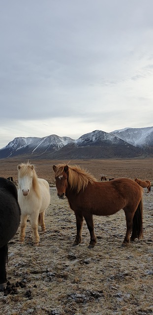
[[[101,130],[82,135],[50,155],[51,159],[134,158],[142,151],[129,143]]]

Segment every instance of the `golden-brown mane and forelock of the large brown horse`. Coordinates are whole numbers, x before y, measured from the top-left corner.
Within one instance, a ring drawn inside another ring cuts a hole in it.
[[[60,176],[64,171],[66,164],[59,164],[56,166],[56,176]],[[81,168],[79,165],[68,165],[68,184],[70,189],[75,189],[77,193],[81,189],[85,189],[89,183],[97,182],[95,177],[87,170]]]

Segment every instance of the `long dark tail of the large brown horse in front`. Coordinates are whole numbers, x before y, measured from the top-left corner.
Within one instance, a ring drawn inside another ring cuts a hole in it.
[[[133,217],[131,241],[135,238],[139,240],[143,237],[143,201],[139,202],[138,208]]]

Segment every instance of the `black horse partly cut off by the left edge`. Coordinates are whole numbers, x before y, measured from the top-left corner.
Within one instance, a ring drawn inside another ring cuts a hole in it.
[[[8,242],[20,224],[20,207],[16,186],[0,177],[0,289],[6,286]]]

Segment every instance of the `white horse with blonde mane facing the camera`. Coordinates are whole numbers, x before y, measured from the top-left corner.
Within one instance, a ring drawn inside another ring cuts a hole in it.
[[[33,230],[33,245],[39,245],[38,223],[43,232],[45,227],[45,210],[50,204],[50,188],[46,180],[38,178],[34,165],[29,162],[19,164],[18,169],[18,202],[21,208],[19,244],[25,239],[28,215]]]

